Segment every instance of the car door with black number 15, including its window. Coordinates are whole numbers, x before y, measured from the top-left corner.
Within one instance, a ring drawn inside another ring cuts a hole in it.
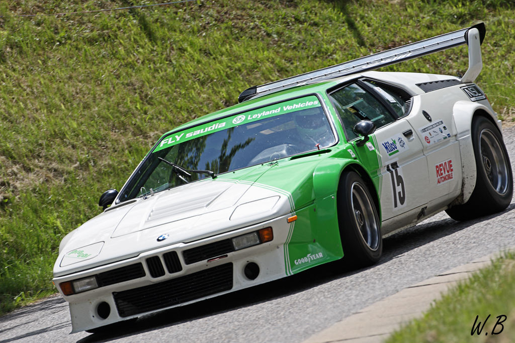
[[[427,204],[428,168],[422,142],[401,117],[400,98],[364,80],[347,84],[329,97],[347,140],[379,189],[383,234],[415,221]],[[359,146],[362,138],[352,129],[362,120],[374,122],[377,128]]]

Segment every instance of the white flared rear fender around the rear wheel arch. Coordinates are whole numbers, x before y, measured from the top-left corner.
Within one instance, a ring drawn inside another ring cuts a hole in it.
[[[462,173],[462,191],[450,207],[466,203],[476,185],[476,160],[474,157],[474,148],[472,146],[472,118],[475,115],[483,115],[487,117],[502,134],[502,126],[497,123],[495,113],[485,105],[478,102],[460,100],[453,106],[453,120],[456,127],[456,140],[459,142],[459,151],[461,154],[461,173]]]

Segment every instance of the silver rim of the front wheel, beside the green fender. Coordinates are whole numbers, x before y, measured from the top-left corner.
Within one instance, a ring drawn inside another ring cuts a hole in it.
[[[375,251],[379,248],[380,232],[379,223],[374,215],[373,204],[370,202],[365,188],[354,182],[351,186],[352,209],[359,233],[367,246]]]

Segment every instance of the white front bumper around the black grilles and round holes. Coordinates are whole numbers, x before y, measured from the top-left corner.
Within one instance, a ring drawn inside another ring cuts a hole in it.
[[[284,268],[284,243],[286,242],[288,231],[290,224],[288,224],[286,220],[286,216],[279,217],[273,220],[262,222],[259,225],[249,226],[245,229],[236,230],[233,232],[228,232],[224,234],[220,234],[211,238],[201,239],[194,243],[184,244],[177,243],[174,245],[169,245],[161,248],[154,249],[152,251],[148,251],[140,254],[136,258],[127,259],[124,261],[119,261],[108,266],[97,267],[93,269],[88,269],[82,272],[74,273],[72,276],[68,277],[58,277],[54,278],[54,282],[58,285],[61,282],[68,281],[71,279],[78,279],[82,277],[88,277],[97,275],[98,273],[110,270],[113,268],[123,267],[127,265],[132,265],[134,263],[142,263],[145,268],[146,276],[143,278],[130,280],[122,283],[116,283],[114,285],[105,286],[96,288],[93,290],[85,291],[83,293],[75,294],[72,296],[64,296],[64,299],[70,303],[70,312],[72,319],[72,327],[74,332],[79,332],[83,330],[89,330],[92,328],[96,328],[101,325],[108,325],[110,323],[114,323],[120,320],[130,319],[133,317],[139,317],[144,315],[145,313],[140,313],[138,315],[121,317],[118,315],[116,311],[116,304],[113,298],[113,291],[124,291],[127,289],[133,289],[137,287],[147,286],[159,282],[163,282],[169,279],[179,278],[184,275],[189,275],[191,273],[205,270],[207,268],[215,267],[221,264],[233,263],[233,288],[229,291],[225,291],[222,293],[217,293],[215,295],[202,297],[196,299],[194,301],[184,302],[178,305],[169,306],[165,308],[177,307],[186,305],[188,303],[200,301],[203,299],[212,298],[214,296],[218,296],[221,294],[229,293],[238,289],[247,288],[250,286],[259,285],[262,283],[266,283],[272,280],[276,280],[286,276],[286,270]],[[193,263],[190,265],[186,265],[182,258],[182,251],[186,249],[191,249],[194,247],[198,247],[201,245],[209,244],[211,242],[220,241],[221,239],[235,237],[244,233],[256,231],[262,228],[266,228],[269,226],[273,226],[274,238],[272,242],[264,243],[261,245],[257,245],[254,247],[246,248],[243,250],[234,251],[228,254],[227,258],[220,259],[213,262],[206,263],[205,261]],[[155,241],[155,240],[154,240]],[[170,274],[168,272],[165,273],[164,276],[159,278],[151,278],[150,273],[145,263],[145,260],[150,256],[160,256],[160,259],[163,260],[162,255],[169,251],[176,251],[178,253],[179,259],[181,261],[181,265],[183,269],[177,273]],[[258,264],[260,267],[260,273],[258,278],[255,280],[249,280],[245,277],[244,268],[249,262],[254,262]],[[59,288],[59,287],[58,287]],[[61,293],[62,294],[62,293]],[[96,313],[97,305],[100,302],[107,302],[111,307],[111,313],[107,319],[99,318]],[[161,308],[164,310],[165,308]],[[153,311],[152,311],[153,312]]]

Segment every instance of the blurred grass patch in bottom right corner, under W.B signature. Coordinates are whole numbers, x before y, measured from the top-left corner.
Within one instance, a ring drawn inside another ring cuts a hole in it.
[[[420,319],[393,333],[385,343],[459,343],[515,341],[515,253],[505,253],[465,282],[459,283]],[[487,316],[490,318],[486,321]],[[505,317],[497,318],[504,315]],[[475,330],[472,333],[472,327]],[[499,320],[502,324],[495,324]],[[503,322],[503,320],[505,320]],[[484,328],[478,335],[477,324]],[[502,330],[502,331],[501,331]],[[492,332],[497,335],[492,335]],[[488,335],[486,335],[488,333]]]

